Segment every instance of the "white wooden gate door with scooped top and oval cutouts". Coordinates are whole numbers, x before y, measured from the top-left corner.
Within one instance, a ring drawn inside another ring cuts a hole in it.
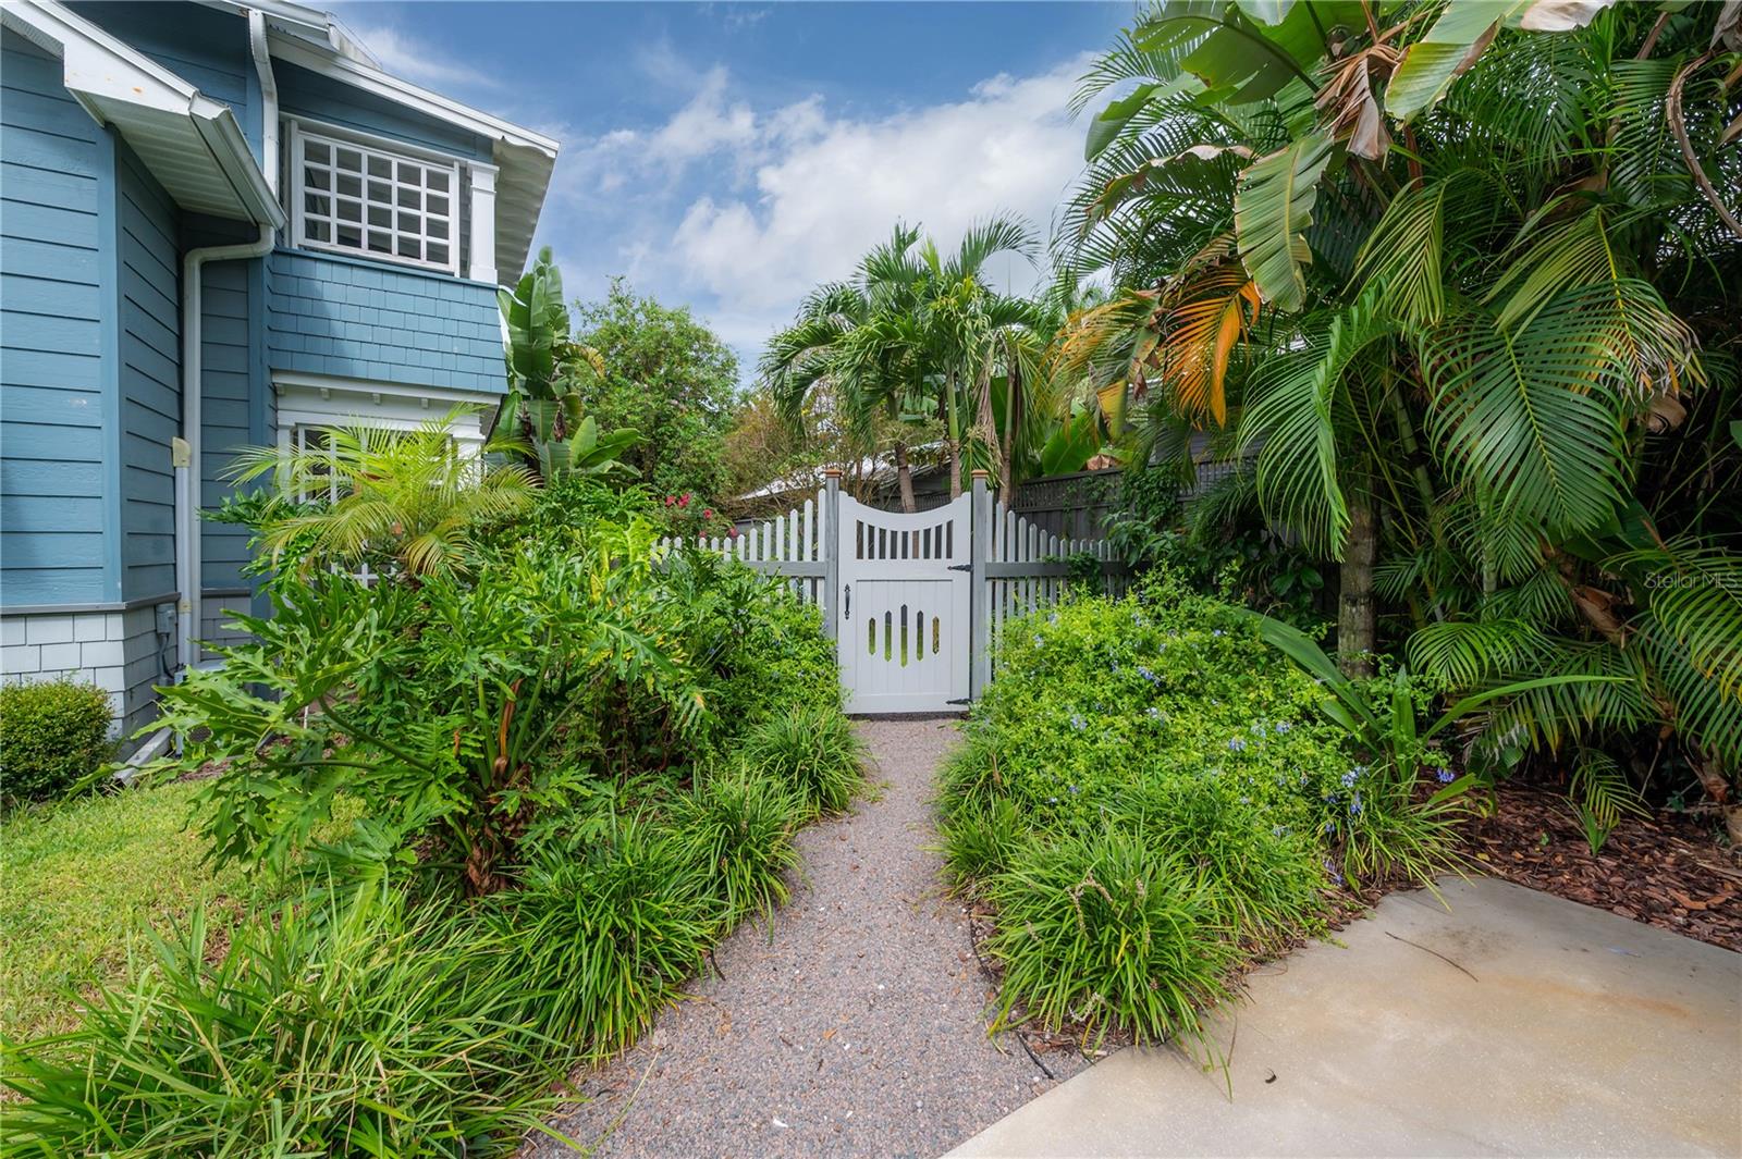
[[[972,498],[909,515],[841,496],[840,513],[847,712],[967,705]]]

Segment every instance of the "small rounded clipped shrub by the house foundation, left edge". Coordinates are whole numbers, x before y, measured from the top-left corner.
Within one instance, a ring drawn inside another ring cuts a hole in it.
[[[108,693],[77,680],[0,687],[0,799],[63,795],[115,755]]]

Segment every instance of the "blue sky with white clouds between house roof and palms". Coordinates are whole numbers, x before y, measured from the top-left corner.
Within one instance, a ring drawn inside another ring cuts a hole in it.
[[[742,360],[895,219],[1042,230],[1082,162],[1064,103],[1131,3],[338,3],[390,71],[563,141],[538,244]],[[1005,275],[1030,275],[1017,263]]]

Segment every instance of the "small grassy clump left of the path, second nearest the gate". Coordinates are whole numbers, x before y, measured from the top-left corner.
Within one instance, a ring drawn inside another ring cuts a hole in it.
[[[798,865],[793,830],[803,814],[796,790],[742,767],[699,780],[672,804],[671,825],[697,851],[726,926],[753,910],[772,917],[786,903],[786,872]]]

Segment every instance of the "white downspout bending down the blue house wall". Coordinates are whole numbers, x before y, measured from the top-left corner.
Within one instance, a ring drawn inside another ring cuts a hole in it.
[[[279,191],[279,85],[267,50],[267,17],[247,10],[247,42],[260,73],[261,153],[267,188]],[[272,252],[277,230],[260,226],[260,237],[237,245],[206,245],[181,256],[181,439],[176,440],[176,660],[186,677],[199,661],[200,630],[200,271],[209,261],[239,261]]]

